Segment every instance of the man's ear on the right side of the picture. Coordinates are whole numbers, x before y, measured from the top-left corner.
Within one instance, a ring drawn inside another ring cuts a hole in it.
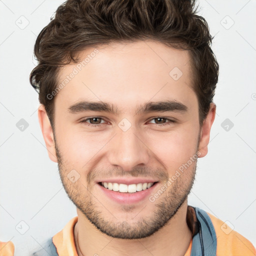
[[[200,152],[200,155],[198,155],[198,157],[203,157],[208,152],[210,128],[215,119],[215,114],[216,114],[216,105],[213,102],[211,102],[209,112],[206,118],[203,120],[201,130],[200,130],[200,140],[198,145],[198,151]]]

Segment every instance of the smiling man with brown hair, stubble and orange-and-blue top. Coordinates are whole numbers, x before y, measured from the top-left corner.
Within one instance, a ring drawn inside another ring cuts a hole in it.
[[[215,117],[211,39],[194,1],[58,7],[36,39],[30,82],[77,217],[33,255],[256,255],[187,205]]]

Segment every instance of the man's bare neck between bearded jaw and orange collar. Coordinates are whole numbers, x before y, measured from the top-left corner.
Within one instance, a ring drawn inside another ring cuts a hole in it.
[[[186,223],[187,200],[166,225],[149,237],[140,239],[118,239],[101,233],[77,209],[78,221],[74,227],[74,240],[78,256],[127,254],[145,256],[184,255],[191,231]]]

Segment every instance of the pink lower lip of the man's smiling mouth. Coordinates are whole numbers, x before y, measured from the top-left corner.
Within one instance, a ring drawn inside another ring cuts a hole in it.
[[[145,198],[148,198],[157,183],[158,182],[154,183],[152,186],[145,190],[141,190],[134,193],[122,193],[118,191],[109,190],[98,183],[97,185],[103,191],[103,193],[105,193],[108,197],[110,197],[112,200],[118,203],[136,203]]]

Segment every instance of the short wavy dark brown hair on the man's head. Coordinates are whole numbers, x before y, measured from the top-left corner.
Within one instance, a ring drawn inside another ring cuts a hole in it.
[[[38,65],[30,83],[54,129],[53,99],[59,67],[73,61],[88,46],[113,41],[151,39],[189,50],[193,89],[199,104],[199,122],[205,119],[218,80],[218,63],[210,45],[205,19],[196,15],[194,0],[67,0],[37,36],[34,55]]]

